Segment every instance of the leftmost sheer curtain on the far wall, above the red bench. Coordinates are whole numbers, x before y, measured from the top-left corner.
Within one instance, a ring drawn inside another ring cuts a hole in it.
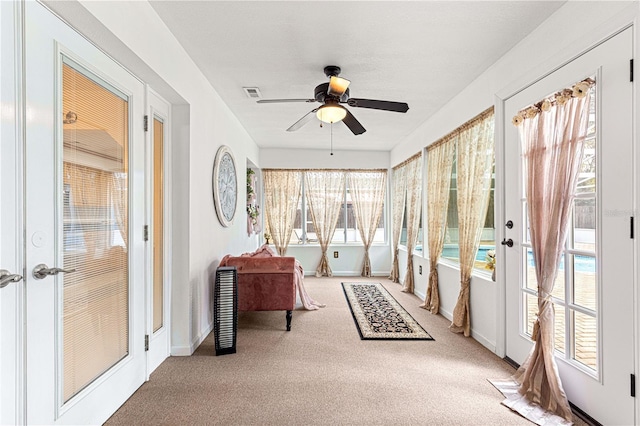
[[[284,256],[296,220],[302,172],[266,169],[263,179],[265,219],[278,254]]]

